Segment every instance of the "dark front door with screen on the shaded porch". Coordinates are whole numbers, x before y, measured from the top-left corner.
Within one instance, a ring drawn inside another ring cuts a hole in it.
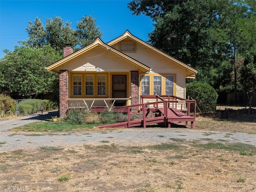
[[[126,98],[126,75],[112,76],[112,98]],[[125,106],[126,100],[116,100],[114,106]]]

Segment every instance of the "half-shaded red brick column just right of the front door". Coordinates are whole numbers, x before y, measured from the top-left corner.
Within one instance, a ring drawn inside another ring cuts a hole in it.
[[[139,82],[139,72],[131,71],[131,104],[140,103],[140,82]],[[131,109],[131,116],[139,118],[138,113],[139,107],[133,107]]]

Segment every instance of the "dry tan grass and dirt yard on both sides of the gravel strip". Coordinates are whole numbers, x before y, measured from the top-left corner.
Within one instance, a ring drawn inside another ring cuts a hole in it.
[[[256,136],[255,114],[200,116],[195,131]],[[164,137],[159,135],[159,137]],[[256,138],[256,137],[255,137]],[[157,145],[40,147],[0,154],[0,191],[256,192],[256,146],[170,138]]]

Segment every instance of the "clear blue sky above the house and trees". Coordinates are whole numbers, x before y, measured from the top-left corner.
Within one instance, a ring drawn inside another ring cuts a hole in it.
[[[64,22],[76,22],[82,16],[98,18],[96,25],[103,33],[102,40],[109,42],[122,35],[127,29],[136,37],[147,41],[148,33],[154,29],[152,20],[144,15],[132,15],[127,8],[131,0],[0,0],[0,58],[4,49],[14,50],[18,41],[27,39],[28,21],[60,16]]]

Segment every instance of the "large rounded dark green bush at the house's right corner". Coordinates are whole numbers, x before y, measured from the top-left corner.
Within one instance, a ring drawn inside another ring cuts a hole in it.
[[[209,84],[203,82],[188,83],[186,95],[196,100],[196,104],[202,112],[216,111],[218,94]]]

